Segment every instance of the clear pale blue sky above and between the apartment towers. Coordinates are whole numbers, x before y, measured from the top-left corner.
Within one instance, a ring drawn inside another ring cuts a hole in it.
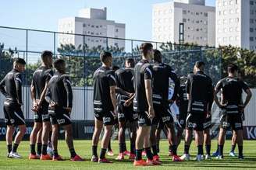
[[[84,7],[107,7],[107,19],[126,23],[126,38],[151,40],[151,5],[169,1],[5,0],[1,2],[0,26],[57,31],[58,19],[78,16],[79,9]],[[206,0],[206,5],[215,6],[215,0]]]

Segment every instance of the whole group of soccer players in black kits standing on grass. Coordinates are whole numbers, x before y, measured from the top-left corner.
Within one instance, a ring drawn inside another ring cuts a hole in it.
[[[211,109],[215,100],[222,110],[220,119],[219,144],[217,158],[223,158],[223,145],[226,130],[231,127],[239,148],[239,158],[243,159],[243,120],[241,113],[251,99],[251,90],[237,77],[239,68],[229,64],[228,77],[212,85],[212,79],[204,74],[204,62],[197,61],[194,71],[178,78],[176,72],[162,63],[162,54],[154,50],[151,43],[140,45],[141,60],[135,63],[127,58],[125,68],[114,71],[112,54],[103,51],[100,54],[102,66],[94,72],[94,134],[92,137],[91,161],[112,163],[105,154],[112,136],[112,127],[119,127],[119,155],[122,161],[129,155],[134,166],[161,165],[159,138],[164,130],[169,141],[169,155],[172,161],[190,159],[190,144],[194,131],[197,145],[197,161],[211,159],[212,126]],[[62,59],[52,60],[52,52],[41,54],[41,67],[34,72],[31,82],[32,110],[34,128],[30,134],[29,159],[62,161],[58,154],[59,127],[65,130],[66,144],[69,147],[71,161],[83,161],[73,146],[73,132],[70,113],[73,106],[73,92],[69,76],[66,75],[66,63]],[[55,68],[55,74],[52,70]],[[4,113],[7,125],[6,144],[9,158],[22,158],[17,147],[26,132],[21,110],[22,77],[26,62],[17,58],[13,69],[0,82],[0,91],[5,95]],[[242,92],[246,92],[245,102]],[[219,101],[218,93],[221,93]],[[179,106],[179,109],[177,109]],[[15,127],[19,132],[13,141]],[[130,151],[126,149],[126,127],[130,131]],[[101,131],[101,151],[98,157],[98,141]],[[177,133],[176,133],[177,130]],[[183,156],[177,155],[177,147],[185,130]],[[35,145],[37,143],[37,152]],[[204,156],[203,145],[206,154]],[[52,151],[51,151],[52,148]],[[147,157],[144,161],[143,156]]]

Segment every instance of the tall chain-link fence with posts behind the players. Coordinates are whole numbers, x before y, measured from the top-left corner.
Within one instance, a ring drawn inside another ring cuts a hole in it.
[[[30,82],[33,72],[40,65],[41,51],[52,50],[54,57],[65,58],[67,71],[73,85],[73,120],[93,120],[92,75],[101,66],[101,50],[112,52],[113,65],[122,68],[127,57],[140,60],[141,43],[152,43],[161,50],[163,61],[170,64],[180,76],[193,71],[195,61],[204,61],[206,73],[213,82],[221,78],[221,52],[213,47],[201,47],[175,43],[144,40],[127,40],[104,36],[87,36],[72,33],[57,33],[34,29],[18,29],[0,26],[0,78],[12,69],[12,58],[22,57],[27,61],[23,73],[23,112],[32,119]],[[2,108],[3,96],[0,97]],[[0,112],[0,118],[3,113]]]

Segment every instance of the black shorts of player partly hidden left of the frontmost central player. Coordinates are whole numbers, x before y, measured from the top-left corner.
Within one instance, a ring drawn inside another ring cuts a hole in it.
[[[134,122],[138,120],[138,114],[133,111],[133,106],[125,107],[123,104],[117,106],[119,122]]]

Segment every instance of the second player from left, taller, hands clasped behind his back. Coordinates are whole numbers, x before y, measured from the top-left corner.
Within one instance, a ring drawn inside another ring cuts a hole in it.
[[[50,116],[48,114],[48,102],[45,101],[45,93],[48,82],[52,78],[52,52],[44,50],[41,54],[41,67],[34,71],[31,83],[31,99],[33,101],[34,128],[30,134],[30,156],[29,159],[37,159],[38,152],[42,152],[41,160],[52,160],[47,154],[49,131],[51,128]],[[42,137],[37,141],[39,131],[42,130]],[[35,142],[37,141],[37,154]],[[40,144],[43,144],[40,151]],[[40,156],[40,154],[39,154]]]

